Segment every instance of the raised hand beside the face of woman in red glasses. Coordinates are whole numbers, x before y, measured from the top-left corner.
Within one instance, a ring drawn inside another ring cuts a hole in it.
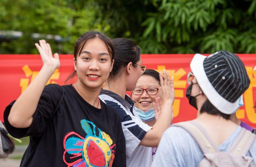
[[[170,79],[169,72],[165,71],[162,73],[159,73],[160,77],[160,85],[161,85],[161,91],[160,91],[160,98],[161,101],[164,103],[166,101],[170,102],[171,105],[174,103],[174,85],[173,85],[173,76]]]

